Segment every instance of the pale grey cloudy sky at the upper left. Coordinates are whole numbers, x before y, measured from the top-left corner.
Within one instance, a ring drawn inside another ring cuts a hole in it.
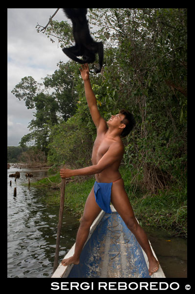
[[[28,123],[35,109],[27,109],[11,90],[24,76],[32,76],[37,82],[57,69],[57,63],[67,61],[58,42],[51,43],[43,33],[37,33],[36,25],[47,25],[49,16],[57,8],[7,8],[7,146],[18,146],[21,138],[29,133]],[[60,9],[53,20],[65,20]]]

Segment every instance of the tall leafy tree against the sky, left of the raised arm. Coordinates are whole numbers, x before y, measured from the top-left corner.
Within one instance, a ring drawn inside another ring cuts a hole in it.
[[[28,125],[29,134],[21,139],[21,146],[31,142],[48,154],[50,128],[59,120],[67,121],[73,116],[77,105],[73,69],[69,64],[59,63],[59,70],[37,83],[33,77],[22,78],[12,93],[25,101],[27,109],[35,109],[34,119]]]

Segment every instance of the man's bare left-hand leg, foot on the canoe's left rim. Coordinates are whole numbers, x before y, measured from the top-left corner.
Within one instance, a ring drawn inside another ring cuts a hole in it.
[[[83,245],[85,244],[87,237],[89,235],[90,227],[93,221],[97,218],[100,211],[101,211],[101,208],[96,203],[96,199],[94,195],[94,187],[93,187],[85,203],[83,217],[81,219],[81,223],[76,235],[76,244],[74,248],[74,254],[70,258],[62,260],[63,266],[79,263],[79,257],[80,257]]]

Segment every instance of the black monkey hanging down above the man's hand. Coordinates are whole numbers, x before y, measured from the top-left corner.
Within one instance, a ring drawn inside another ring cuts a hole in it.
[[[96,42],[90,35],[88,20],[86,18],[87,8],[62,8],[66,16],[73,23],[73,37],[75,45],[70,48],[63,48],[63,52],[74,61],[83,63],[93,63],[96,53],[99,56],[99,67],[95,73],[100,73],[103,65],[103,43]],[[79,59],[76,56],[82,56]]]

